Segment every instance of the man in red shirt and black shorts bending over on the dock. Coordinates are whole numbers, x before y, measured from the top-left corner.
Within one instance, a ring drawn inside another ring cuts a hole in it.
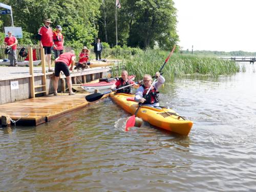
[[[59,57],[55,59],[55,69],[54,69],[54,95],[57,95],[57,89],[58,89],[58,81],[59,81],[59,73],[62,71],[66,78],[67,78],[67,84],[69,87],[69,95],[74,95],[75,93],[72,92],[72,82],[70,77],[70,70],[73,70],[73,66],[75,64],[75,51],[71,50],[67,53],[62,53]],[[70,69],[69,66],[71,65]]]

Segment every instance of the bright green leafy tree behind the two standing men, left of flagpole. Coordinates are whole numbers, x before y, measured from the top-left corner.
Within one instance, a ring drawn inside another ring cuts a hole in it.
[[[14,25],[34,34],[33,38],[45,18],[52,19],[53,28],[62,26],[65,45],[81,48],[91,44],[97,34],[91,20],[99,16],[99,0],[5,0],[4,3],[12,6]]]

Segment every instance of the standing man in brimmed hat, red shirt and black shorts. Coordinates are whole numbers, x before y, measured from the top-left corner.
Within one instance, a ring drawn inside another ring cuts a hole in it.
[[[50,24],[52,24],[51,19],[47,18],[44,20],[45,26],[41,27],[38,32],[38,37],[40,41],[40,47],[45,49],[46,60],[48,62],[48,71],[53,72],[51,69],[51,48],[53,45],[53,34]]]

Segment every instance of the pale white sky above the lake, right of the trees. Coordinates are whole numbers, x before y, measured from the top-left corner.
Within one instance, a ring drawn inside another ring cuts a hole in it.
[[[183,50],[256,52],[256,0],[173,0]]]

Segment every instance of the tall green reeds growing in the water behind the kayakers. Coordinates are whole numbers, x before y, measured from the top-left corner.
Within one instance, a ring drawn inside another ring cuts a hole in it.
[[[168,52],[146,50],[125,61],[125,69],[130,74],[142,79],[144,74],[155,74],[164,63]],[[240,68],[234,61],[222,60],[216,57],[173,54],[163,72],[166,80],[174,80],[187,74],[202,74],[211,77],[231,75],[239,72]]]

